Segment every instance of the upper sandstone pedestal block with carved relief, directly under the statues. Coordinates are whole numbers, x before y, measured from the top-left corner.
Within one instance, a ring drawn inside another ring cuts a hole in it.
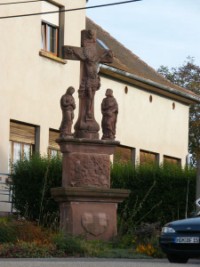
[[[63,187],[110,188],[110,156],[119,142],[72,138],[57,142],[63,154]]]

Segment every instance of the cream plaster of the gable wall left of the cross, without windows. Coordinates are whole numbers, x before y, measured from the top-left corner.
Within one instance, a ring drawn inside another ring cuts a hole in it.
[[[41,12],[41,3],[1,6],[0,16]],[[65,5],[65,9],[85,6],[85,0],[57,0],[57,3]],[[60,97],[70,85],[78,89],[79,63],[61,64],[39,56],[40,15],[3,19],[0,27],[0,172],[6,173],[10,119],[40,126],[41,153],[47,153],[49,128],[58,129],[61,121]],[[65,45],[80,46],[80,32],[84,28],[84,10],[66,12]]]

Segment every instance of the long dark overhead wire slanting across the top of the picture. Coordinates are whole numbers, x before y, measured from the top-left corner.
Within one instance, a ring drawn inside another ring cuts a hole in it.
[[[42,0],[38,0],[38,1],[42,1]],[[22,18],[22,17],[30,17],[30,16],[38,16],[38,15],[48,15],[48,14],[54,14],[54,13],[72,12],[72,11],[78,11],[78,10],[84,10],[84,9],[92,9],[92,8],[100,8],[100,7],[108,7],[108,6],[129,4],[129,3],[132,3],[132,2],[138,2],[138,1],[142,1],[142,0],[129,0],[129,1],[122,1],[122,2],[118,2],[118,3],[102,4],[102,5],[96,5],[96,6],[72,8],[72,9],[65,9],[65,10],[61,9],[59,11],[48,11],[48,12],[21,14],[21,15],[13,15],[13,16],[4,16],[4,17],[0,17],[0,19]],[[29,2],[31,2],[31,1],[29,1]],[[37,1],[35,0],[35,2],[37,2]]]

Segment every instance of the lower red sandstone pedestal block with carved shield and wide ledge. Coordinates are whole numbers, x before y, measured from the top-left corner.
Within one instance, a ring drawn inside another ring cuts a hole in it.
[[[64,232],[100,240],[117,235],[117,206],[130,193],[82,187],[53,188],[51,192],[60,203],[60,227]]]

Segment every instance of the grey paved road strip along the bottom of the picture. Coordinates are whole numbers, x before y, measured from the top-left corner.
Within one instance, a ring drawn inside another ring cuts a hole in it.
[[[172,264],[167,260],[126,259],[0,259],[0,267],[195,267],[199,260],[187,264]]]

